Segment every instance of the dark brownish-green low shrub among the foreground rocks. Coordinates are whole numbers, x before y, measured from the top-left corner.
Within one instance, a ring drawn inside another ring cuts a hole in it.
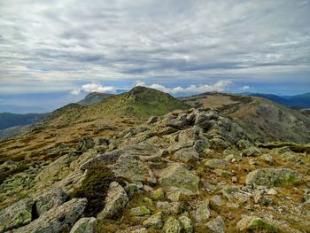
[[[72,198],[87,198],[87,216],[96,216],[105,207],[105,197],[110,183],[115,180],[112,170],[105,163],[97,163],[89,167],[81,187],[74,190]]]

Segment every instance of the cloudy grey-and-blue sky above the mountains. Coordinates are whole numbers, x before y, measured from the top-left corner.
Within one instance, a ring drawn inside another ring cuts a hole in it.
[[[136,85],[309,92],[309,12],[305,0],[1,0],[0,112]]]

